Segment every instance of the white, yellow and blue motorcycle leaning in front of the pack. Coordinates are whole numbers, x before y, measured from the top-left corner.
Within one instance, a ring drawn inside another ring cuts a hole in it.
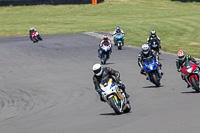
[[[100,83],[100,92],[103,99],[115,111],[116,114],[128,113],[131,110],[131,105],[126,98],[125,93],[118,85],[113,82],[113,79],[105,79]]]

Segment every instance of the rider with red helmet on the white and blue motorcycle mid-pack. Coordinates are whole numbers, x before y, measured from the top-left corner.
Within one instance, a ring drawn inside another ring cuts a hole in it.
[[[101,56],[101,53],[102,53],[101,48],[103,47],[103,45],[110,47],[110,51],[109,51],[109,56],[110,56],[110,54],[112,53],[112,44],[111,44],[111,40],[108,39],[108,35],[104,35],[103,39],[100,41],[99,49],[98,49],[98,57]]]

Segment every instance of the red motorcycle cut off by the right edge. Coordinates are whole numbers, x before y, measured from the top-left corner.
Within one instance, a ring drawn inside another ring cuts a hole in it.
[[[199,88],[199,67],[192,61],[186,61],[183,63],[182,72],[184,73],[184,78],[187,83],[194,89],[196,92],[200,92]]]

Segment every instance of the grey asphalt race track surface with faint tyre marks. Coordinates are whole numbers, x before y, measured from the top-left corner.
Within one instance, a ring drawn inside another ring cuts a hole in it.
[[[162,52],[155,87],[140,75],[140,48],[113,47],[107,67],[121,73],[130,113],[99,100],[92,66],[100,38],[87,34],[0,37],[0,133],[199,133],[200,94],[181,80],[176,56]],[[164,45],[164,42],[163,44]]]

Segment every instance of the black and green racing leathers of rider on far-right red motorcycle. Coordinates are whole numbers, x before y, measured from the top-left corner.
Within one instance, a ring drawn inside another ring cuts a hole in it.
[[[176,59],[176,70],[178,72],[181,72],[181,78],[187,83],[186,79],[184,78],[185,77],[185,74],[181,71],[182,67],[183,67],[183,63],[186,62],[186,61],[192,61],[194,62],[195,64],[199,65],[199,62],[197,60],[195,60],[193,57],[191,57],[190,55],[186,55],[185,56],[185,60],[184,61],[181,61],[179,58]],[[199,66],[198,66],[199,67]],[[199,76],[200,76],[200,73],[199,73]],[[189,84],[187,86],[187,88],[189,88]]]

